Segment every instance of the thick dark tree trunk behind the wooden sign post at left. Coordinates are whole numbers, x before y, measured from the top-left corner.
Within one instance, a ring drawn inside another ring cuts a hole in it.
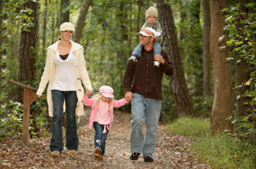
[[[18,81],[31,85],[35,80],[35,57],[37,45],[37,5],[30,0],[22,5],[26,18],[22,21]],[[18,101],[23,103],[23,89],[18,89]]]

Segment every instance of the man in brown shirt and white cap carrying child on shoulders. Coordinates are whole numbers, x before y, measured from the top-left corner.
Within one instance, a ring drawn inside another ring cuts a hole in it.
[[[150,30],[150,31],[149,31]],[[131,102],[131,160],[138,160],[139,155],[145,162],[153,161],[153,151],[157,142],[157,126],[160,118],[162,100],[162,78],[173,75],[173,67],[166,51],[160,55],[153,54],[154,36],[156,31],[150,27],[138,32],[143,46],[138,62],[128,62],[123,86],[125,98]],[[155,68],[154,60],[160,62],[160,68]],[[132,83],[133,81],[133,83]],[[131,88],[132,85],[132,88]],[[146,125],[146,133],[142,126]]]

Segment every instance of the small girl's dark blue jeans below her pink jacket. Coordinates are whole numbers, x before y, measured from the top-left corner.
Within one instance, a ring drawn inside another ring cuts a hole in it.
[[[93,127],[96,131],[95,136],[94,136],[94,147],[102,148],[101,155],[104,155],[105,154],[105,140],[107,139],[107,136],[109,134],[109,129],[105,128],[106,132],[102,133],[105,125],[99,124],[97,122],[93,122]]]

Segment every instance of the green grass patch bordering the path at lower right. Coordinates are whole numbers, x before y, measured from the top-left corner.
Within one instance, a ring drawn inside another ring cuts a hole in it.
[[[167,126],[167,132],[191,136],[191,150],[212,168],[255,168],[255,149],[240,139],[217,133],[212,136],[209,120],[181,118]]]

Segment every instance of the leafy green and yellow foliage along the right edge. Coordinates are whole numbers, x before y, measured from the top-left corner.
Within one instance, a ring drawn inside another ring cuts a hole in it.
[[[248,10],[245,12],[241,9]],[[250,98],[250,102],[244,104],[250,104],[251,108],[248,109],[248,116],[241,117],[229,117],[228,120],[235,125],[234,136],[238,136],[243,142],[255,142],[254,141],[254,102],[256,97],[256,81],[254,78],[255,75],[255,28],[256,28],[256,4],[247,3],[247,4],[236,4],[233,8],[225,8],[223,11],[228,11],[226,15],[226,23],[224,30],[228,30],[229,40],[227,45],[232,48],[234,53],[238,53],[240,58],[236,59],[236,62],[248,62],[250,66],[251,78],[249,81],[245,81],[244,84],[241,84],[235,88],[241,88],[242,86],[248,85],[249,90],[242,95],[242,97]],[[222,40],[220,38],[219,40]],[[231,60],[232,58],[228,58]],[[240,95],[236,96],[237,98],[241,97]]]

